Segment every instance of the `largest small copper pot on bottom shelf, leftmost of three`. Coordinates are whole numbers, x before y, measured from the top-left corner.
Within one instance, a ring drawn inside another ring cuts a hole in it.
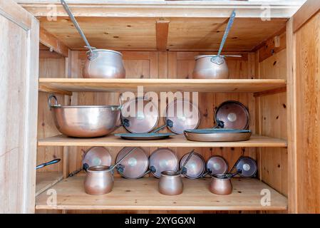
[[[113,189],[113,170],[108,166],[93,166],[87,170],[84,190],[88,195],[104,195]]]

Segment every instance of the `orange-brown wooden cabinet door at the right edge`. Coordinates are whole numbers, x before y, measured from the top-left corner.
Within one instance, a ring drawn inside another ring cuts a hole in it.
[[[320,13],[295,37],[297,212],[320,212]]]

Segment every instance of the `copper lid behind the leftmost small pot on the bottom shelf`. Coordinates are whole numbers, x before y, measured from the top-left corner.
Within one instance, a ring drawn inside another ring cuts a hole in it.
[[[93,166],[110,166],[112,157],[105,147],[91,147],[82,158],[82,165],[87,164],[88,167]]]

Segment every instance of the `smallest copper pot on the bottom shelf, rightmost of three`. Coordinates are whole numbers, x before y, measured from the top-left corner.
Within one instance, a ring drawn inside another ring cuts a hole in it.
[[[231,177],[228,175],[212,176],[209,190],[217,195],[230,195],[232,193]]]

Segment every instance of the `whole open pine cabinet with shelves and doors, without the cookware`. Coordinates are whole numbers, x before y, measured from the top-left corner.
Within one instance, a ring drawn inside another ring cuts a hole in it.
[[[0,3],[4,212],[319,212],[318,1],[270,2],[271,20],[260,18],[266,11],[259,3],[246,1],[68,1],[92,46],[123,53],[125,79],[82,78],[84,43],[58,2],[18,2]],[[237,18],[224,53],[242,57],[227,58],[230,79],[192,79],[194,57],[217,53],[231,9]],[[254,135],[246,142],[192,142],[183,135],[155,141],[67,138],[47,105],[51,93],[63,105],[118,104],[120,92],[137,86],[156,93],[199,92],[199,128],[215,125],[220,103],[238,100],[249,109]],[[91,197],[83,191],[84,174],[68,177],[81,168],[83,151],[91,146],[107,147],[113,161],[126,146],[149,154],[170,147],[179,158],[195,148],[205,159],[222,155],[229,166],[247,155],[259,171],[254,179],[234,178],[234,191],[226,197],[212,195],[209,180],[184,180],[182,195],[165,197],[154,177],[125,180],[118,173],[113,192]],[[35,172],[36,163],[57,157],[62,162]],[[56,192],[56,203],[48,203],[48,190]],[[262,190],[271,194],[269,206],[261,204]]]

